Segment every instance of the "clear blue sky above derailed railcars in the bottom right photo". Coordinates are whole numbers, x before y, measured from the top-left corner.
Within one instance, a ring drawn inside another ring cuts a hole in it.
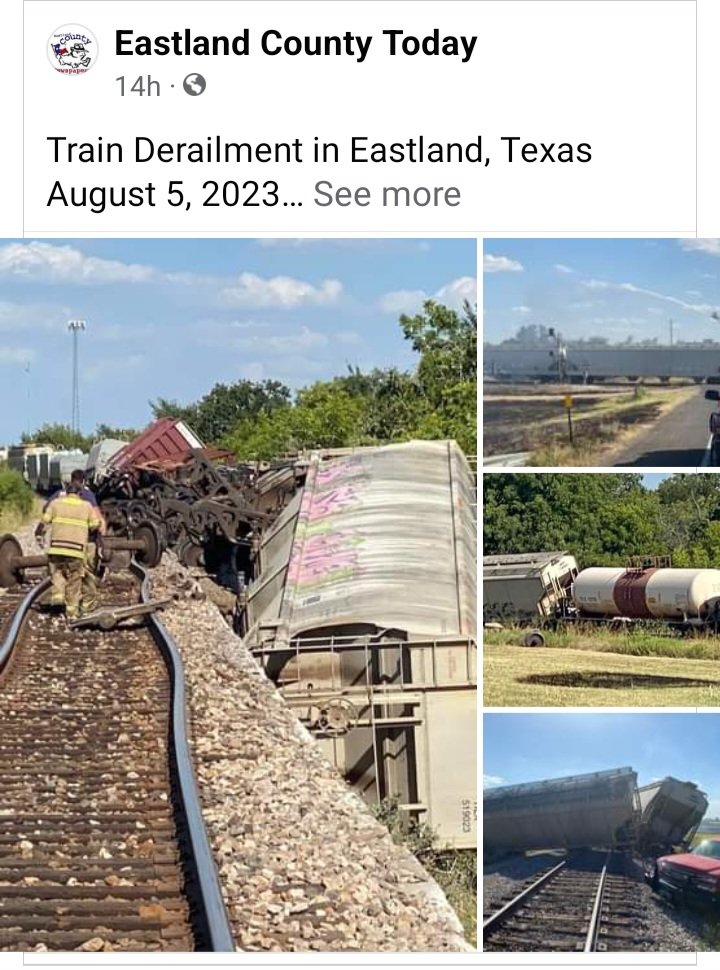
[[[631,767],[694,781],[720,815],[720,714],[486,714],[484,787]]]

